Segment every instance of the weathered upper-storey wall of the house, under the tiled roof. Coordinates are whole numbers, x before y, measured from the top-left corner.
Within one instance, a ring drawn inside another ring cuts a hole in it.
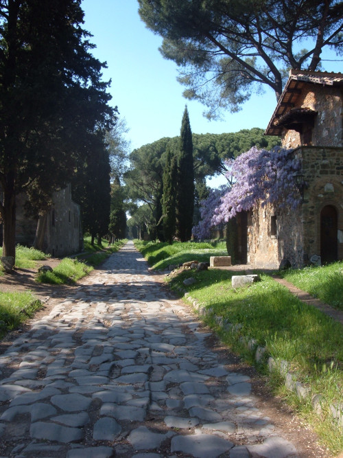
[[[312,131],[313,146],[343,146],[341,87],[306,84],[296,101],[296,107],[318,111]],[[285,148],[300,146],[300,134],[296,130],[285,130],[282,144]]]

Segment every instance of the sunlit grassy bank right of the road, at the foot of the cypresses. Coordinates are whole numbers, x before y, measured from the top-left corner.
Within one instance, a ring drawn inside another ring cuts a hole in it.
[[[156,269],[164,269],[169,264],[198,260],[209,262],[211,256],[226,256],[225,242],[143,242],[134,240],[134,246],[141,251],[147,262]]]

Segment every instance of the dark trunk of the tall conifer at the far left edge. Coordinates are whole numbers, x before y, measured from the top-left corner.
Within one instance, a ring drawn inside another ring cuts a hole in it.
[[[14,184],[14,183],[13,183]],[[8,188],[11,188],[9,186]],[[12,189],[3,190],[3,256],[16,259],[16,195]]]

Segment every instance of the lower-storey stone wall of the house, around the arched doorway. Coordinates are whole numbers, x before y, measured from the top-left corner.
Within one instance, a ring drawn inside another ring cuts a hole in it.
[[[320,255],[320,212],[331,205],[338,216],[338,259],[343,260],[343,148],[300,147],[304,201],[295,210],[260,204],[248,219],[248,264],[279,268],[281,260],[302,267]]]

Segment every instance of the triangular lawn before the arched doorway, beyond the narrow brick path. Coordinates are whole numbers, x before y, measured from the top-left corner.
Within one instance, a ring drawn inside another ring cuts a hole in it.
[[[289,269],[282,277],[298,288],[318,297],[329,306],[343,310],[343,262],[327,266],[311,266]]]

